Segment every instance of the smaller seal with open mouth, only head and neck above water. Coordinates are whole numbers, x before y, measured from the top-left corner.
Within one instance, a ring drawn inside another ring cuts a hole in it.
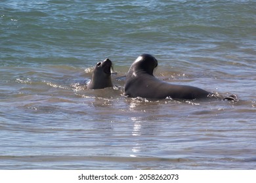
[[[87,89],[102,89],[107,87],[113,87],[111,80],[112,61],[105,59],[102,62],[98,62],[93,70],[93,76],[91,81],[87,85]]]

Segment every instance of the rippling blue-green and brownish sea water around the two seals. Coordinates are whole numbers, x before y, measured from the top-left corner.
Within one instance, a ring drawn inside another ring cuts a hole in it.
[[[256,169],[256,1],[0,2],[0,169]],[[123,95],[154,74],[238,102]],[[87,90],[114,63],[114,88]]]

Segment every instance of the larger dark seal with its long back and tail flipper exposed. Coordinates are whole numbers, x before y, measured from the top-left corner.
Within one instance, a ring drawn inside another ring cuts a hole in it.
[[[214,94],[194,86],[175,85],[163,82],[153,75],[158,60],[150,54],[140,55],[131,65],[125,80],[125,95],[152,99],[203,99]],[[235,100],[236,95],[224,99]]]

